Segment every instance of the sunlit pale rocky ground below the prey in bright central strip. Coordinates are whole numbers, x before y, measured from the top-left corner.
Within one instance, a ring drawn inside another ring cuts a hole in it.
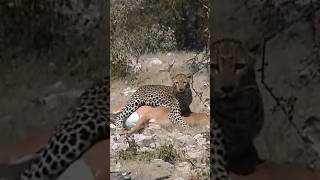
[[[133,179],[208,178],[209,128],[202,131],[168,132],[149,127],[132,137],[112,130],[110,139],[111,172],[125,171]],[[118,179],[118,178],[115,178]]]

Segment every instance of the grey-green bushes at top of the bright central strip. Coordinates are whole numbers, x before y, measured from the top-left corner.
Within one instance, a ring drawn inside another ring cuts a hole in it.
[[[111,1],[111,62],[135,65],[145,53],[203,50],[209,37],[207,4],[206,0]]]

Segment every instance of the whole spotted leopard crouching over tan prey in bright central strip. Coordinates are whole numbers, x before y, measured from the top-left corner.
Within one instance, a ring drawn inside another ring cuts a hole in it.
[[[191,75],[177,73],[171,76],[172,86],[143,85],[135,91],[127,104],[117,113],[115,125],[122,129],[125,120],[141,106],[162,106],[169,109],[168,118],[173,125],[183,129],[190,126],[183,121],[181,115],[191,112],[192,91],[190,88]]]

